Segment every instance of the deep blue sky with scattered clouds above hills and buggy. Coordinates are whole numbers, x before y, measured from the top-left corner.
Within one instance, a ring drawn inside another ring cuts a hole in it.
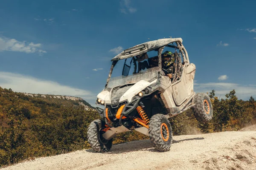
[[[0,0],[0,86],[94,105],[118,51],[181,37],[195,91],[256,97],[256,1]]]

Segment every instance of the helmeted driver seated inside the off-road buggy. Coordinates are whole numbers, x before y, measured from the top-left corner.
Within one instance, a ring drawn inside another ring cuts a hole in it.
[[[165,69],[168,74],[166,74],[166,76],[168,76],[170,79],[172,79],[172,74],[174,74],[174,66],[175,66],[175,57],[174,54],[171,51],[165,51],[162,54],[162,63],[163,63],[163,69]]]

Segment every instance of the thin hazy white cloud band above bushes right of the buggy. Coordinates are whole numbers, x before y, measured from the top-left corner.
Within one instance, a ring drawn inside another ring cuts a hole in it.
[[[225,95],[229,94],[233,89],[236,90],[236,96],[239,99],[248,100],[250,96],[256,96],[256,85],[240,85],[225,82],[194,83],[194,85],[196,93],[206,93],[215,90],[215,96],[221,96],[224,99]]]

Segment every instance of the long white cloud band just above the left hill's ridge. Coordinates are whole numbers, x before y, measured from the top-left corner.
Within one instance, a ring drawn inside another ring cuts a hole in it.
[[[8,72],[0,72],[0,86],[7,89],[12,88],[13,91],[23,93],[65,95],[82,97],[84,99],[95,99],[95,95],[87,90]]]

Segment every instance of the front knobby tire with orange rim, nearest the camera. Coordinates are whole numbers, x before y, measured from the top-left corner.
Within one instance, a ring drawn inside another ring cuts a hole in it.
[[[169,151],[172,143],[172,127],[162,114],[155,114],[148,124],[151,143],[158,151]]]

